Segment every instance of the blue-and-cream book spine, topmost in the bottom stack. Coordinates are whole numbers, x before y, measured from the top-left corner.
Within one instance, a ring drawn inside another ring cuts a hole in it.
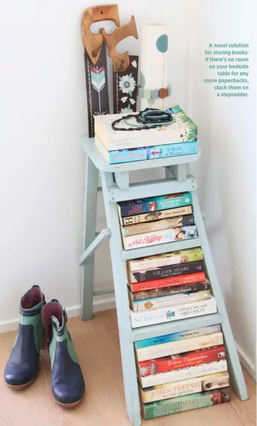
[[[206,334],[214,334],[214,333],[220,333],[220,332],[221,332],[221,324],[210,325],[209,327],[200,327],[200,329],[192,329],[188,331],[181,331],[180,333],[166,334],[165,336],[146,338],[143,341],[135,342],[134,347],[136,349],[148,348],[148,346],[162,345],[162,343],[182,341],[188,338],[193,338],[193,337],[195,338],[198,336],[204,336]],[[137,357],[139,358],[140,352],[139,351],[136,351],[136,352],[137,352]],[[181,350],[179,350],[179,352],[181,352]],[[172,355],[172,353],[168,353],[166,355]],[[154,357],[155,355],[150,355],[149,358],[146,357],[144,359],[152,359]],[[144,361],[144,359],[141,359],[141,361]]]

